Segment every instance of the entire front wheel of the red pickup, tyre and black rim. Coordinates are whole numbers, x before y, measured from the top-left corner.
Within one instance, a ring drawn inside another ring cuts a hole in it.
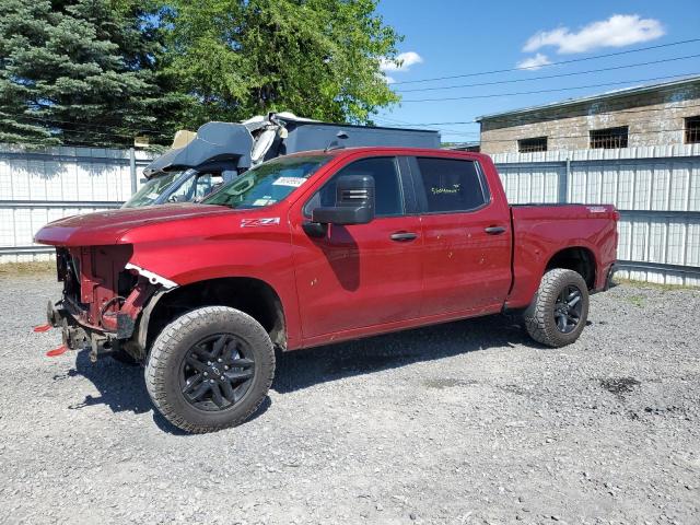
[[[275,375],[270,338],[249,315],[224,306],[197,308],[158,336],[145,386],[175,427],[203,433],[245,421]]]

